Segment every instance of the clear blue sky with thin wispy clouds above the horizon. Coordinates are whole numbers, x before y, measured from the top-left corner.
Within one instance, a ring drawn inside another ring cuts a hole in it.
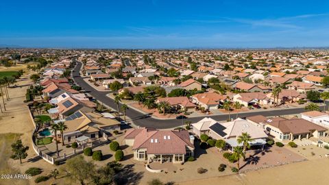
[[[329,1],[3,0],[0,17],[0,45],[329,47]]]

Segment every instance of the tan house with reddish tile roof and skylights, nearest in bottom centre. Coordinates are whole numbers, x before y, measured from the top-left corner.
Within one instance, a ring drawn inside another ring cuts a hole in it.
[[[185,158],[194,156],[194,136],[186,130],[143,127],[127,130],[124,138],[125,144],[134,151],[134,160],[184,163]]]

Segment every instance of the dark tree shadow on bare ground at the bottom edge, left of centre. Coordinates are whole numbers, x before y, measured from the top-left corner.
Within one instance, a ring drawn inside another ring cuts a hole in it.
[[[114,177],[114,182],[116,184],[123,184],[123,185],[134,185],[139,184],[141,181],[144,172],[134,172],[134,165],[135,164],[127,164],[123,169],[117,173]]]

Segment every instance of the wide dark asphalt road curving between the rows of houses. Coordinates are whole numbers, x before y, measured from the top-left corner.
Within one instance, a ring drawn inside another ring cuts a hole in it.
[[[110,97],[107,97],[106,95],[108,92],[101,92],[98,90],[95,90],[95,88],[91,87],[88,83],[82,79],[80,76],[80,69],[82,67],[81,62],[77,62],[75,65],[75,68],[73,69],[73,79],[75,82],[84,88],[84,90],[88,91],[90,95],[92,95],[95,99],[101,101],[102,103],[106,104],[106,106],[109,106],[113,110],[117,110],[117,104],[114,102],[113,99]],[[299,114],[301,112],[305,112],[304,108],[293,108],[293,109],[282,109],[282,110],[264,110],[260,112],[241,112],[239,113],[239,117],[247,117],[247,116],[254,116],[261,114],[263,116],[280,116],[280,115],[288,115],[288,114]],[[138,125],[140,127],[152,127],[157,129],[168,129],[173,127],[180,127],[183,125],[182,120],[178,119],[154,119],[153,117],[147,116],[147,114],[143,114],[141,112],[138,112],[132,108],[128,109],[126,111],[126,114],[130,119],[132,119],[133,123],[135,125]],[[232,117],[234,118],[236,115],[232,114]],[[203,119],[205,116],[199,116],[199,117],[192,117],[188,119],[184,119],[185,121],[192,121],[192,123],[196,123],[197,121]],[[217,121],[226,121],[228,120],[228,114],[220,114],[220,115],[207,115],[207,117],[211,117],[212,119],[215,119]]]

